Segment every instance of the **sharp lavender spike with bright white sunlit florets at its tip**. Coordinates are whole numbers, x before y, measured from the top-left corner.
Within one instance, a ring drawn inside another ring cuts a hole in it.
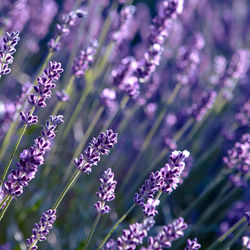
[[[145,180],[145,183],[134,196],[134,202],[136,205],[142,207],[144,214],[151,216],[155,215],[155,207],[158,205],[157,200],[153,200],[154,194],[162,190],[167,194],[170,194],[177,188],[180,182],[180,176],[185,168],[185,159],[188,158],[190,153],[187,150],[173,151],[169,163],[167,163],[159,171],[151,172],[149,178]],[[145,200],[149,199],[145,204]],[[148,213],[151,211],[152,213]]]

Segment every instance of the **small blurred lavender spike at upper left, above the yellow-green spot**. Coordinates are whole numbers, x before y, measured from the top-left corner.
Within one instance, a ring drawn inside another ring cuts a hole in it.
[[[97,48],[98,42],[94,40],[87,49],[82,50],[80,55],[75,58],[72,71],[76,77],[84,76],[86,70],[88,70],[90,65],[94,62]]]

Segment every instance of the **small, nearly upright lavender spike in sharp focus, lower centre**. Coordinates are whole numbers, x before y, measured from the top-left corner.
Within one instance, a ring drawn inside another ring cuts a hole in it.
[[[115,198],[115,188],[117,184],[114,180],[114,173],[111,168],[104,171],[100,182],[100,192],[96,193],[100,200],[95,204],[95,208],[98,213],[107,214],[111,209],[108,205],[105,205],[105,202],[112,201]]]

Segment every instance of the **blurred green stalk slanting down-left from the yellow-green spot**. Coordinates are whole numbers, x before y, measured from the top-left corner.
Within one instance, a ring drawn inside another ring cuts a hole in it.
[[[63,133],[63,139],[65,139],[68,135],[68,133],[70,132],[73,124],[75,123],[75,120],[77,118],[77,116],[79,115],[81,109],[82,109],[82,106],[86,100],[86,97],[88,96],[89,92],[91,91],[92,89],[92,85],[90,84],[87,84],[86,88],[84,89],[84,91],[82,92],[82,95],[80,97],[80,101],[78,102],[69,122],[67,123],[67,126],[64,130],[64,133]]]

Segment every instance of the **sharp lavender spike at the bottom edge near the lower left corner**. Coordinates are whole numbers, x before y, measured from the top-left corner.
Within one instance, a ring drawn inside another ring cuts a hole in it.
[[[35,224],[32,235],[27,239],[27,247],[29,249],[37,249],[37,241],[45,241],[46,236],[49,234],[49,230],[52,228],[53,223],[56,220],[56,210],[49,209],[43,213],[38,224]]]

